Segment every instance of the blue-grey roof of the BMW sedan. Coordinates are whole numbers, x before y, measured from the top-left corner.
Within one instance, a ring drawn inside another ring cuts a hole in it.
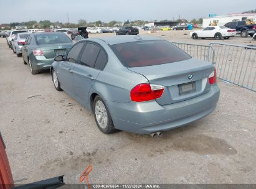
[[[98,38],[89,38],[88,40],[92,40],[95,42],[104,41],[108,45],[115,45],[115,44],[123,44],[128,42],[138,42],[138,41],[145,41],[145,40],[164,40],[160,37],[153,37],[148,35],[118,35],[118,36],[111,36],[111,37],[98,37]]]

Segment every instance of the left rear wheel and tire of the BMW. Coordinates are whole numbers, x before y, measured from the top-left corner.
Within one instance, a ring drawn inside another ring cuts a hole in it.
[[[116,130],[110,112],[100,96],[96,96],[93,101],[93,114],[100,131],[105,134],[111,134]]]

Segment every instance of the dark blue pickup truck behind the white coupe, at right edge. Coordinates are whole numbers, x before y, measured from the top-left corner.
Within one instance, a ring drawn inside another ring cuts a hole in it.
[[[248,35],[252,37],[256,29],[256,24],[246,25],[245,21],[228,22],[224,26],[230,29],[236,29],[237,34],[240,34],[241,37],[248,37]]]

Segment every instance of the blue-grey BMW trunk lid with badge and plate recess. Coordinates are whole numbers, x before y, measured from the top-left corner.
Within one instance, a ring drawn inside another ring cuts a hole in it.
[[[158,104],[164,106],[196,98],[211,90],[209,75],[215,67],[212,63],[190,58],[180,62],[128,69],[145,76],[150,84],[164,86],[163,95],[156,99]]]

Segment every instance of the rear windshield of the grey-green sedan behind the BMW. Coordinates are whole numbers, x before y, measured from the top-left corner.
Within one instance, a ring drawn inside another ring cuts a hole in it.
[[[37,45],[43,44],[62,44],[71,43],[72,41],[65,34],[41,34],[36,35]]]

